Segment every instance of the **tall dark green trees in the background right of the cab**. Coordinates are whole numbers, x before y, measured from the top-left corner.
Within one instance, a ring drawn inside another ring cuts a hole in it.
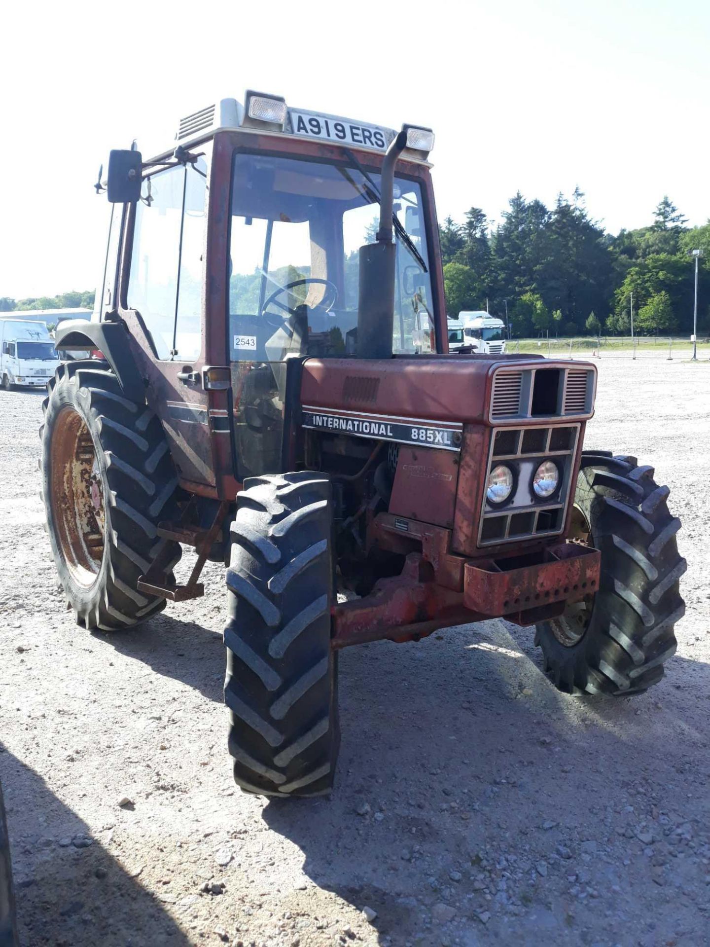
[[[492,227],[479,207],[463,223],[439,225],[447,310],[486,310],[509,321],[513,335],[549,331],[577,335],[605,331],[641,334],[692,332],[695,268],[701,249],[698,331],[710,330],[710,221],[687,227],[667,196],[652,222],[609,234],[592,220],[584,194],[559,194],[549,209],[509,201]]]

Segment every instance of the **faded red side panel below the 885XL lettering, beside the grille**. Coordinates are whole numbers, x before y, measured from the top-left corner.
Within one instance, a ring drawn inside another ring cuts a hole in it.
[[[453,526],[458,455],[426,447],[399,447],[390,513],[439,527]]]

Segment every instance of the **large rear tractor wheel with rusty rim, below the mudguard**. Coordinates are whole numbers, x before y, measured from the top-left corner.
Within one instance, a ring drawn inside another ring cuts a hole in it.
[[[47,385],[42,479],[47,532],[77,621],[104,632],[165,608],[137,590],[155,556],[156,526],[175,509],[177,478],[160,420],[127,398],[97,360],[69,362]],[[181,547],[166,572],[180,559]]]

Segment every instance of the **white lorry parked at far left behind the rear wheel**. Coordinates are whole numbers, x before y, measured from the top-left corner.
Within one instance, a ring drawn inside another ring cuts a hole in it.
[[[44,388],[59,365],[46,323],[0,318],[0,383],[6,391],[14,384]]]

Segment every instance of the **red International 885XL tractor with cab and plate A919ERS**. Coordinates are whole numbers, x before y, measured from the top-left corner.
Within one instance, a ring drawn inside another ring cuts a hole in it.
[[[225,563],[247,792],[328,793],[347,645],[505,617],[558,688],[621,697],[675,649],[680,523],[652,468],[582,450],[595,366],[448,351],[433,144],[247,92],[111,152],[97,312],[57,332],[93,353],[44,402],[66,597],[121,632]]]

